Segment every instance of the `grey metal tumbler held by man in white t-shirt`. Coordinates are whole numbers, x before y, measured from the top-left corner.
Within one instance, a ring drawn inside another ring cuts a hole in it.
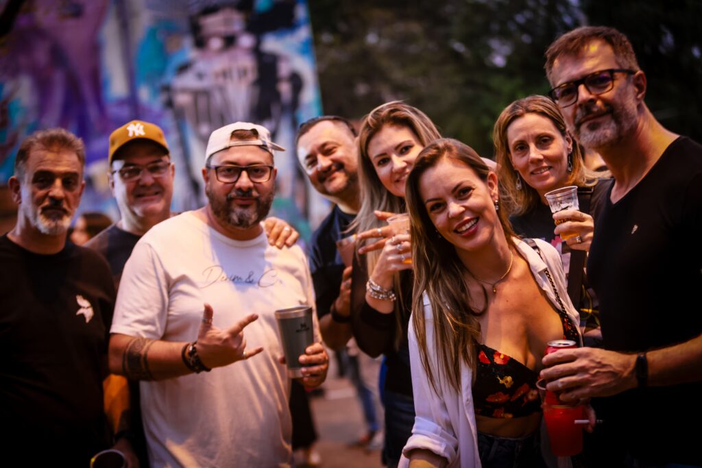
[[[275,319],[280,331],[283,354],[288,366],[288,376],[302,377],[303,365],[300,356],[314,342],[314,325],[312,323],[312,307],[298,305],[288,309],[275,311]]]

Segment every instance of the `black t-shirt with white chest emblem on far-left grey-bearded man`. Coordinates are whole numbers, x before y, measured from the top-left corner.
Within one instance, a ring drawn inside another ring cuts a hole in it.
[[[102,401],[114,283],[68,242],[40,255],[0,237],[0,452],[27,466],[88,467],[110,446]]]

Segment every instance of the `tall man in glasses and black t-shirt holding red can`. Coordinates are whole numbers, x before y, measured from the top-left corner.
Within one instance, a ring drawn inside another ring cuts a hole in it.
[[[611,396],[626,466],[702,466],[702,146],[661,126],[628,39],[580,27],[546,52],[569,131],[614,177],[590,248],[604,349],[545,356],[561,399]],[[694,423],[692,423],[694,424]]]

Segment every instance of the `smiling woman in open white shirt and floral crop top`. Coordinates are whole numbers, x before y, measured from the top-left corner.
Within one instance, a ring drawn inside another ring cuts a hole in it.
[[[560,259],[523,241],[497,175],[457,140],[423,149],[406,187],[415,281],[411,463],[542,467],[536,389],[550,340],[581,343]]]

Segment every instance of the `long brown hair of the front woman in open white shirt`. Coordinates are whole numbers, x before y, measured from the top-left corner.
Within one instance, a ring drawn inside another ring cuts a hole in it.
[[[475,349],[480,338],[477,317],[482,312],[470,306],[470,291],[463,280],[465,265],[456,255],[453,244],[437,233],[419,193],[419,184],[424,173],[443,159],[453,159],[465,164],[475,171],[483,182],[487,182],[490,169],[468,145],[451,138],[442,138],[432,142],[419,154],[406,185],[414,268],[412,320],[422,365],[435,391],[442,375],[445,375],[451,387],[460,392],[461,362],[475,369]],[[497,216],[505,237],[512,243],[514,233],[507,213],[500,209]],[[432,372],[428,359],[423,294],[428,296],[432,307],[435,352],[441,369],[438,376]],[[459,356],[460,359],[457,359]]]

